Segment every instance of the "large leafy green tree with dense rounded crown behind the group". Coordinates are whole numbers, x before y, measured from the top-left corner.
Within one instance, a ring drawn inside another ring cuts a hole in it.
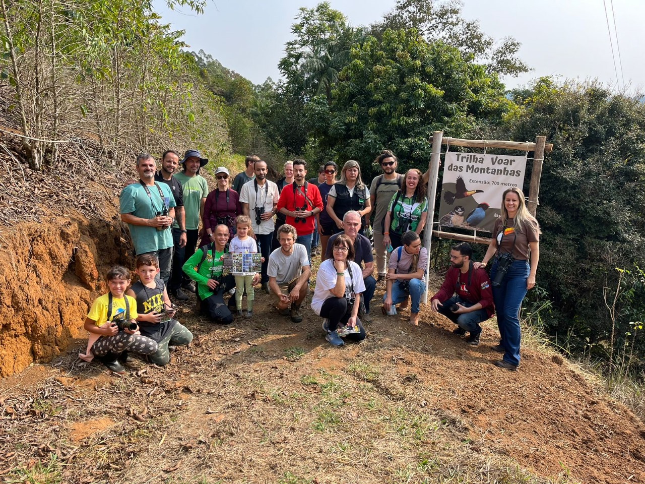
[[[372,161],[382,148],[426,166],[433,130],[460,137],[500,123],[510,105],[504,86],[443,43],[428,44],[415,30],[386,30],[352,49],[332,103],[306,106],[323,157]]]

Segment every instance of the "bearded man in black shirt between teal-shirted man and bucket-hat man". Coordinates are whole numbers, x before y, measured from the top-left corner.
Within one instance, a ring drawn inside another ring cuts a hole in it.
[[[173,176],[179,166],[179,153],[174,150],[167,150],[161,156],[161,170],[155,174],[155,181],[161,181],[170,187],[172,196],[175,198],[175,219],[177,219],[177,228],[172,228],[172,239],[175,245],[172,257],[172,270],[181,270],[179,261],[179,250],[186,247],[186,223],[184,219],[184,190],[181,183]],[[175,291],[174,297],[179,301],[186,301],[188,296],[179,289]]]

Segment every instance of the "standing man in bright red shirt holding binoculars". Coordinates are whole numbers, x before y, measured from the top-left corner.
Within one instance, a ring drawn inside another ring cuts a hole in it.
[[[277,209],[286,216],[286,223],[298,231],[296,243],[304,245],[307,257],[312,260],[312,234],[316,215],[323,210],[323,198],[318,187],[306,181],[307,162],[293,161],[293,183],[284,185]]]

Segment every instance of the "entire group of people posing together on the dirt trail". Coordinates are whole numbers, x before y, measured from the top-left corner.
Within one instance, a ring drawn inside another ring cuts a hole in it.
[[[86,319],[90,341],[82,358],[98,356],[118,372],[131,352],[159,365],[168,363],[170,351],[192,339],[174,319],[170,301],[188,299],[184,291],[195,292],[197,307],[213,322],[227,324],[234,314],[253,316],[253,287],[261,284],[281,314],[300,322],[312,255],[317,254],[321,265],[311,307],[323,318],[330,344],[365,338],[363,323],[371,319],[380,283],[385,285],[383,314],[395,314],[397,305],[401,310],[409,303],[410,323],[419,324],[428,265],[421,238],[428,216],[428,172],[413,168],[398,174],[397,157],[386,150],[375,160],[382,174],[369,188],[353,160],[344,163],[339,179],[338,166],[330,161],[310,180],[306,161],[288,161],[284,177],[274,183],[266,179],[266,163],[248,156],[246,169],[233,180],[219,166],[217,187],[209,192],[199,174],[208,159],[197,150],[186,151],[181,162],[180,157],[164,152],[159,172],[152,156],[137,157],[139,181],[123,189],[120,209],[137,254],[139,281],[128,290],[129,271],[112,268],[110,293],[95,301]],[[364,235],[371,212],[374,251]],[[497,308],[501,339],[495,349],[504,352],[499,366],[510,370],[519,365],[519,308],[535,284],[538,241],[539,226],[526,210],[521,190],[506,190],[502,216],[482,262],[471,261],[468,244],[455,245],[446,281],[432,297],[432,309],[457,323],[457,334],[468,332],[471,345],[479,344],[480,324]],[[224,259],[237,253],[261,254],[261,270],[225,274]],[[493,281],[501,270],[505,277],[498,276],[501,284],[491,288],[484,267],[493,259]]]

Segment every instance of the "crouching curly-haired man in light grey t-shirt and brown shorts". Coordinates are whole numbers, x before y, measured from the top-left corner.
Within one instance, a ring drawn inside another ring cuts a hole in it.
[[[311,267],[307,250],[295,243],[298,234],[293,225],[284,224],[278,230],[280,248],[269,256],[269,287],[275,307],[283,316],[290,316],[294,323],[303,320],[300,306],[309,292],[307,281]]]

